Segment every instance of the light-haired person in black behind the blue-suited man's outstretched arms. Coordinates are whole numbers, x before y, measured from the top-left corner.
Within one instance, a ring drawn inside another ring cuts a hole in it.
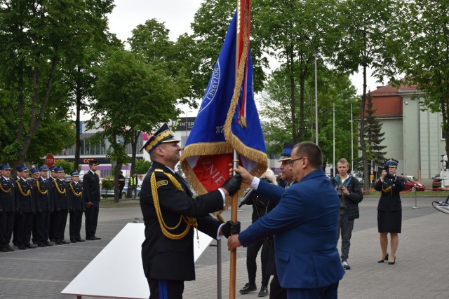
[[[262,176],[260,176],[261,180],[267,181],[268,183],[273,183],[277,185],[276,175],[272,171],[272,169],[267,169]],[[273,201],[269,200],[269,197],[264,196],[262,194],[257,194],[253,192],[254,189],[250,189],[245,197],[249,195],[250,197],[246,200],[245,204],[253,205],[253,215],[251,217],[252,222],[255,223],[257,219],[267,214],[271,211],[275,204]],[[243,202],[243,201],[242,201]],[[270,243],[273,242],[271,239],[260,239],[256,242],[253,242],[248,245],[248,249],[246,250],[246,271],[248,272],[248,283],[243,286],[240,290],[240,293],[247,294],[257,290],[257,286],[255,284],[255,277],[257,272],[257,264],[256,258],[257,253],[259,253],[260,248],[262,248],[262,252],[260,253],[260,264],[262,266],[262,286],[260,286],[259,297],[265,297],[269,294],[268,292],[268,282],[269,282],[269,274],[267,272],[267,263],[269,257],[269,246]]]

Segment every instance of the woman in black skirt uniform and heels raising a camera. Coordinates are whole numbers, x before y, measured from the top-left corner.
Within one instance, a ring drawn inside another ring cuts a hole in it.
[[[389,265],[396,263],[396,250],[402,225],[402,204],[400,192],[404,190],[404,179],[396,176],[398,160],[393,158],[385,161],[385,168],[380,179],[375,183],[375,190],[380,191],[377,205],[377,229],[380,233],[380,248],[382,258],[378,263],[388,260]],[[387,253],[388,233],[390,233],[390,255]]]

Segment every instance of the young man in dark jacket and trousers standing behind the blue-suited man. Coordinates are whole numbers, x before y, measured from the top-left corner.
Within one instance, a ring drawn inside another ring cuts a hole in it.
[[[345,158],[337,162],[338,174],[330,179],[337,190],[340,198],[340,214],[337,223],[337,240],[342,235],[342,266],[344,270],[351,269],[347,259],[349,257],[349,246],[351,246],[351,235],[354,229],[354,219],[359,217],[358,203],[363,200],[363,193],[358,179],[348,174],[349,163]]]

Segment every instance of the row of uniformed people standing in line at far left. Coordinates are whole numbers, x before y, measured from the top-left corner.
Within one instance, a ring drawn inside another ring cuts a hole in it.
[[[0,165],[0,251],[15,251],[11,241],[20,250],[84,242],[81,238],[83,213],[86,239],[100,239],[95,236],[100,202],[100,179],[95,173],[98,164],[95,160],[89,162],[90,170],[84,175],[82,185],[79,172],[71,172],[72,180],[67,182],[65,170],[58,166],[28,169],[23,165],[17,167],[14,180],[11,167]],[[68,217],[69,239],[66,239]]]

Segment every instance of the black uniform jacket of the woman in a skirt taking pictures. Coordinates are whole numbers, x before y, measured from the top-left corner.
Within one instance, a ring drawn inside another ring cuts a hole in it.
[[[386,177],[383,182],[380,179],[376,181],[374,188],[381,191],[377,211],[402,211],[399,193],[404,190],[404,183],[405,181],[401,176],[394,176],[394,179]]]

